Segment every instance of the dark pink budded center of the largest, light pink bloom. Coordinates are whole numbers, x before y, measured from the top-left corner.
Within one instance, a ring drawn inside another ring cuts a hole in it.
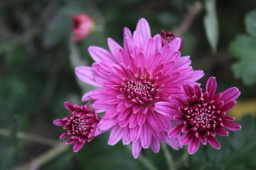
[[[122,82],[122,88],[120,88],[123,94],[127,95],[127,98],[132,103],[138,103],[140,105],[150,104],[159,98],[157,92],[158,86],[152,84],[151,81],[141,78],[132,81]]]

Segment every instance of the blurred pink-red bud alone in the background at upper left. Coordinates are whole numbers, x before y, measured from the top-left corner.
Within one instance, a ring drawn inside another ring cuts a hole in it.
[[[73,40],[83,40],[90,34],[94,20],[86,14],[79,14],[72,17],[73,21]]]

